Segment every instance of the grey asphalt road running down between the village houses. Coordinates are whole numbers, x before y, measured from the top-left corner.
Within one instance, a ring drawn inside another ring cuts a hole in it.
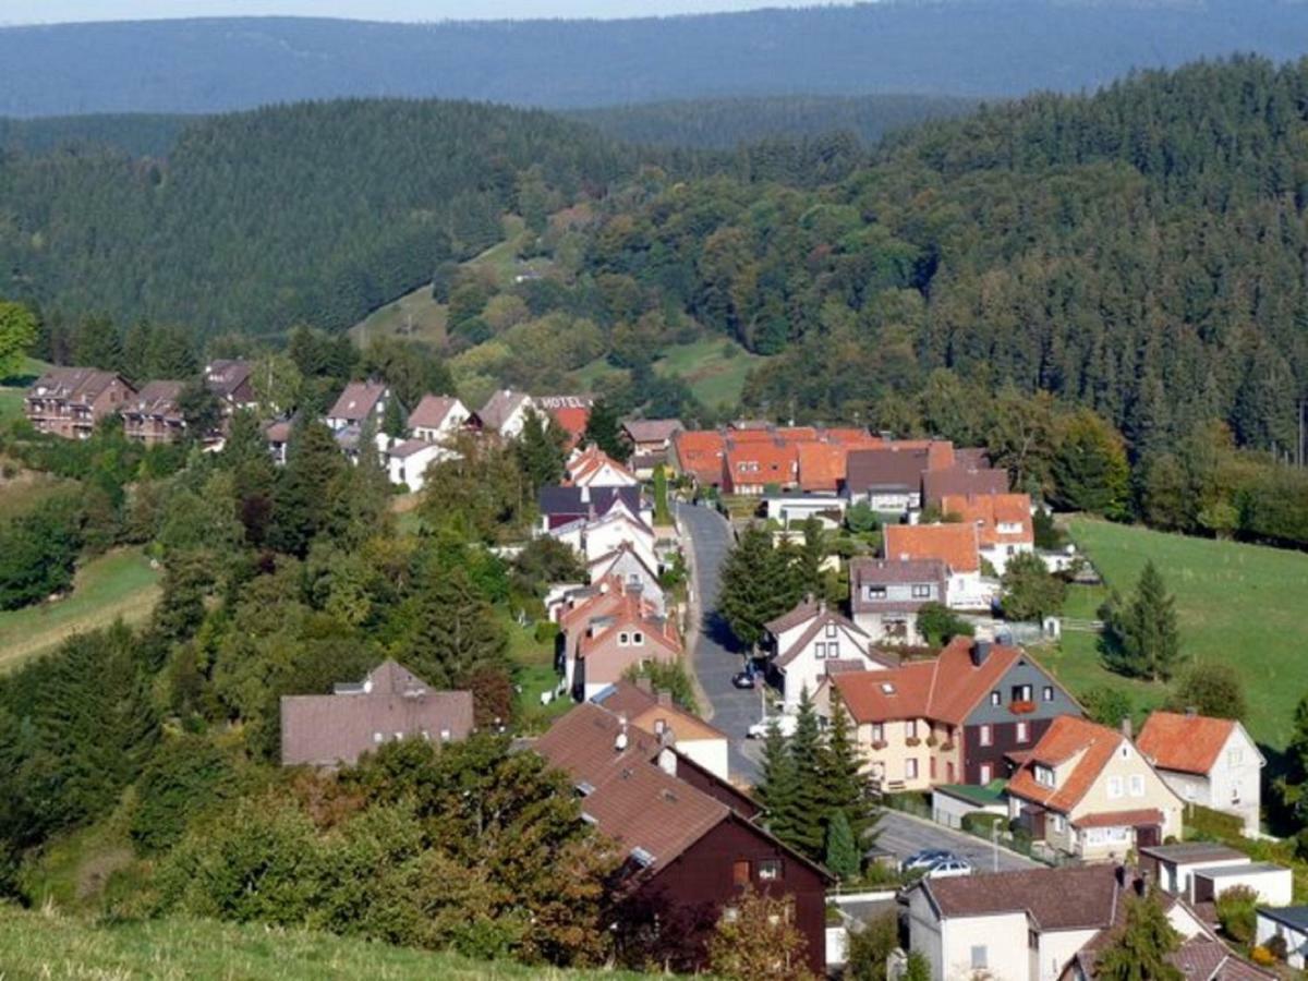
[[[676,517],[689,538],[696,611],[700,613],[691,666],[713,706],[713,725],[730,740],[731,776],[753,783],[759,778],[761,747],[748,740],[746,732],[763,715],[763,689],[748,691],[731,684],[731,675],[744,666],[744,658],[717,611],[722,562],[732,544],[731,526],[709,506],[678,502]]]

